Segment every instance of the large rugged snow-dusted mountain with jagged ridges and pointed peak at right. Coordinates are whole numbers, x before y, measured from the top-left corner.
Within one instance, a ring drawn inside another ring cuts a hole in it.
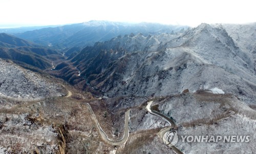
[[[116,37],[84,48],[71,62],[109,97],[165,96],[215,87],[247,102],[256,96],[252,56],[216,25],[174,35]]]

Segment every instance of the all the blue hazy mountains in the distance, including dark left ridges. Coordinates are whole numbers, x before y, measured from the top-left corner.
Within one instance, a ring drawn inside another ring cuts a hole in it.
[[[38,28],[34,30],[34,28]],[[40,29],[42,28],[42,29]],[[17,29],[0,29],[11,32],[0,33],[0,50],[2,58],[23,62],[40,69],[53,67],[52,61],[63,59],[63,52],[69,59],[85,46],[93,46],[97,41],[109,40],[118,35],[141,35],[176,33],[184,31],[180,26],[152,23],[126,24],[111,21],[89,21],[59,27],[28,27]],[[32,31],[19,31],[19,30]],[[15,33],[22,32],[22,33]],[[60,53],[61,51],[61,53]],[[49,56],[51,55],[51,56]]]

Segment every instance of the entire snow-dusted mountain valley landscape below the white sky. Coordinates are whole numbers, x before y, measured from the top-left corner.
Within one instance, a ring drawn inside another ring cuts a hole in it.
[[[254,153],[254,40],[255,23],[1,33],[0,153]]]

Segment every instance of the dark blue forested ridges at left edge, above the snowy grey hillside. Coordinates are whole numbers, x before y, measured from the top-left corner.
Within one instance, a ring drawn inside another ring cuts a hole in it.
[[[51,55],[50,57],[47,57]],[[0,58],[11,59],[39,69],[52,67],[53,60],[59,59],[61,53],[33,42],[0,33]]]

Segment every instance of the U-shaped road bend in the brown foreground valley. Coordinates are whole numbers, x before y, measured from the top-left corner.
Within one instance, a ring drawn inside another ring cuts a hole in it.
[[[99,122],[95,116],[95,114],[93,113],[93,110],[92,110],[92,107],[90,106],[90,104],[88,103],[83,103],[84,105],[87,105],[89,111],[90,111],[90,114],[91,114],[91,117],[93,119],[93,121],[95,122],[96,124],[96,127],[97,129],[99,130],[99,134],[101,136],[101,138],[108,144],[111,144],[111,145],[121,145],[121,144],[124,144],[128,137],[129,137],[129,119],[130,119],[130,112],[131,112],[131,109],[129,109],[128,111],[126,111],[125,113],[125,120],[124,120],[124,135],[123,135],[123,138],[120,139],[120,140],[117,140],[117,141],[113,141],[113,140],[110,140],[108,138],[108,136],[106,136],[105,132],[102,130],[102,128],[100,127],[99,125]]]

